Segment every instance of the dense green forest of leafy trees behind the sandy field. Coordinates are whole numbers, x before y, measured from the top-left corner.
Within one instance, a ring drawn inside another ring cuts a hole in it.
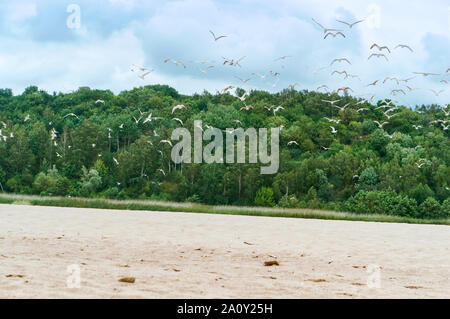
[[[1,89],[0,190],[450,217],[446,108],[293,88],[253,90],[245,101],[242,89],[233,93]],[[348,107],[327,102],[338,99]],[[193,132],[195,120],[222,130],[280,127],[278,173],[260,174],[262,164],[175,165],[161,141],[181,125]]]

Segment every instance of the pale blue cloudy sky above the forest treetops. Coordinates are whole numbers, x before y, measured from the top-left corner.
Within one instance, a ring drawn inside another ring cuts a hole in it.
[[[326,28],[342,30],[324,39]],[[337,20],[355,22],[351,29]],[[209,33],[227,35],[214,41]],[[81,86],[114,93],[168,84],[180,93],[211,93],[228,85],[277,92],[350,87],[352,95],[399,103],[450,102],[448,0],[18,0],[0,3],[0,88],[21,94],[31,85],[48,92]],[[370,50],[377,43],[391,53]],[[397,48],[398,44],[410,46]],[[373,57],[372,53],[385,53]],[[278,60],[281,56],[289,56]],[[240,59],[240,66],[223,65]],[[347,58],[351,65],[330,63]],[[164,60],[182,61],[186,68]],[[206,61],[206,64],[201,64]],[[154,70],[139,78],[132,65]],[[206,74],[201,72],[212,65]],[[358,78],[344,80],[333,71]],[[278,72],[272,76],[268,72]],[[429,72],[439,76],[417,76]],[[266,75],[264,79],[253,75]],[[386,77],[410,80],[407,84]],[[252,78],[246,84],[238,77]],[[367,85],[379,80],[377,86]],[[405,85],[414,90],[409,92]],[[407,94],[392,95],[403,89]],[[438,96],[436,92],[442,91]]]

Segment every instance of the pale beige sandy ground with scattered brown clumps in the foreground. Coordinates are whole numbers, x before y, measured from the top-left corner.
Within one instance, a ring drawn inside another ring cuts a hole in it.
[[[449,298],[449,244],[448,226],[0,205],[0,298]]]

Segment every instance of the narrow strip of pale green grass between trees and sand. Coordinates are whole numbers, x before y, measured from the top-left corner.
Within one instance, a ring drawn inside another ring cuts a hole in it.
[[[390,215],[352,214],[313,209],[210,206],[196,203],[172,203],[153,200],[112,200],[0,194],[0,204],[450,225],[450,219],[417,219]]]

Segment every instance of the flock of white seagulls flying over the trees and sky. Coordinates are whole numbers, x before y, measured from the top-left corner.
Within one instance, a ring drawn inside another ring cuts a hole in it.
[[[341,28],[328,28],[328,27],[324,27],[322,24],[320,24],[319,22],[317,22],[315,19],[312,19],[313,23],[315,25],[317,25],[321,31],[323,32],[323,40],[328,40],[331,38],[347,38],[344,30],[342,30]],[[342,27],[346,28],[347,31],[351,31],[354,29],[355,26],[363,23],[365,20],[361,19],[361,20],[357,20],[355,22],[347,22],[347,21],[343,21],[343,20],[336,20]],[[212,30],[209,30],[209,33],[212,36],[212,40],[216,43],[218,41],[225,41],[226,38],[228,38],[228,35],[216,35],[216,33],[214,33]],[[373,43],[370,47],[369,47],[369,51],[370,51],[370,55],[368,56],[367,60],[371,61],[373,59],[382,59],[385,60],[386,62],[389,62],[389,58],[388,56],[390,54],[392,54],[393,51],[396,50],[404,50],[404,51],[408,51],[409,53],[414,53],[413,48],[411,48],[409,45],[407,44],[398,44],[396,45],[392,50],[388,45],[385,44],[378,44],[378,43]],[[273,62],[275,63],[284,63],[286,60],[292,58],[291,55],[283,55],[280,56],[278,58],[275,58],[273,60]],[[246,59],[246,56],[242,56],[239,58],[227,58],[227,57],[222,57],[223,61],[221,62],[222,66],[226,66],[226,67],[239,67],[242,68],[241,63],[244,61],[244,59]],[[167,63],[171,63],[176,67],[182,67],[183,69],[187,68],[187,65],[182,62],[181,60],[175,60],[173,58],[166,58],[162,61],[164,64]],[[200,62],[198,62],[199,64],[202,65],[202,67],[198,67],[198,70],[203,74],[203,75],[207,75],[208,72],[212,71],[213,69],[215,69],[217,66],[216,65],[212,65],[210,61],[208,60],[202,60]],[[317,74],[318,72],[321,72],[327,68],[331,68],[331,67],[335,67],[335,66],[348,66],[351,67],[353,66],[352,61],[348,58],[348,57],[336,57],[334,59],[332,59],[332,61],[329,63],[328,66],[326,67],[322,67],[320,69],[318,69],[317,71],[314,72],[314,74]],[[281,65],[282,68],[284,68],[284,65]],[[131,66],[131,71],[133,73],[137,74],[137,77],[145,80],[148,76],[150,76],[155,70],[154,69],[150,69],[147,67],[143,67],[143,66],[137,66],[135,64],[133,64]],[[450,76],[450,68],[448,68],[445,72],[443,72],[443,74],[440,73],[431,73],[431,72],[412,72],[412,74],[414,74],[414,76],[411,76],[409,78],[405,78],[402,79],[400,77],[395,77],[395,76],[387,76],[384,79],[376,79],[373,80],[371,83],[368,83],[367,85],[365,85],[365,88],[370,88],[370,87],[376,87],[379,86],[381,84],[383,85],[395,85],[395,87],[393,87],[391,89],[391,95],[392,96],[397,96],[399,94],[402,95],[407,95],[408,92],[414,91],[414,90],[419,90],[420,88],[413,88],[409,85],[409,82],[416,79],[417,77],[423,76],[423,77],[437,77],[437,76]],[[281,76],[281,73],[279,71],[276,70],[269,70],[267,72],[253,72],[251,73],[251,76],[248,77],[239,77],[239,76],[235,76],[235,78],[237,80],[239,80],[239,82],[241,84],[248,84],[250,81],[253,81],[255,79],[260,80],[260,81],[266,81],[268,79],[275,79],[276,82],[272,85],[272,87],[275,87],[276,84],[278,83],[279,77]],[[357,74],[351,74],[350,72],[348,72],[347,70],[333,70],[330,73],[330,77],[333,76],[343,76],[342,81],[346,81],[348,79],[357,79],[359,81],[361,81],[359,75]],[[444,78],[441,79],[440,81],[441,84],[448,84],[448,81]],[[403,87],[401,86],[403,85]],[[289,85],[289,88],[291,90],[293,90],[296,86],[300,86],[299,83],[292,83]],[[227,94],[229,93],[232,89],[236,88],[235,85],[228,85],[225,88],[223,88],[222,90],[218,90],[217,93],[219,94]],[[331,98],[331,96],[336,97],[336,94],[341,97],[339,94],[343,94],[343,96],[341,98],[338,99],[323,99],[322,102],[323,103],[327,103],[330,105],[330,109],[331,109],[331,117],[325,117],[324,120],[328,121],[329,123],[331,123],[332,125],[329,125],[330,128],[330,133],[333,135],[338,134],[339,129],[338,129],[338,125],[341,122],[341,119],[335,119],[333,118],[333,109],[337,109],[339,112],[345,112],[347,109],[353,109],[354,111],[356,111],[357,113],[360,114],[366,114],[367,112],[371,111],[371,109],[368,107],[368,104],[373,103],[375,100],[375,94],[366,94],[366,93],[362,93],[359,94],[358,96],[360,97],[364,97],[361,98],[357,103],[355,103],[354,105],[351,105],[351,103],[346,103],[344,105],[342,105],[342,101],[343,101],[343,97],[345,97],[349,92],[352,93],[356,93],[355,90],[350,87],[349,85],[343,85],[342,87],[336,88],[335,90],[330,90],[330,88],[328,87],[328,85],[326,84],[322,84],[320,86],[317,87],[316,89],[317,91],[323,91],[326,94],[328,94],[328,96]],[[439,97],[443,92],[446,91],[446,88],[431,88],[428,89],[429,92],[433,93],[434,96]],[[242,103],[242,107],[239,108],[239,111],[250,111],[252,109],[254,109],[254,106],[251,104],[247,104],[246,103],[246,99],[248,98],[249,94],[247,92],[244,91],[243,94],[241,94],[240,96],[235,95],[235,97]],[[385,126],[387,126],[391,120],[392,117],[398,115],[398,113],[396,113],[396,111],[398,110],[397,106],[394,105],[394,103],[396,103],[397,101],[393,100],[393,99],[385,99],[384,101],[381,102],[380,106],[376,107],[375,110],[377,109],[387,109],[386,111],[384,111],[383,115],[386,117],[386,121],[383,122],[379,122],[374,120],[373,122],[377,125],[378,128],[383,129]],[[95,101],[95,104],[105,104],[104,100],[98,99]],[[176,112],[179,112],[183,109],[185,109],[186,106],[183,104],[177,104],[174,105],[172,107],[171,110],[171,115],[173,116]],[[285,109],[285,107],[283,107],[282,105],[272,105],[272,106],[265,106],[264,109],[266,109],[268,112],[272,113],[274,116],[276,116],[276,114],[282,110]],[[448,109],[448,105],[446,105],[443,108],[443,112],[445,114],[445,117],[448,117],[450,115],[450,109]],[[156,117],[153,116],[153,114],[150,112],[147,114],[147,112],[142,112],[139,109],[139,117],[135,117],[133,116],[134,122],[136,125],[138,125],[139,123],[142,124],[146,124],[146,123],[150,123],[152,121],[155,120],[162,120],[164,118],[162,117]],[[74,113],[68,113],[66,114],[63,118],[68,118],[68,117],[72,117],[72,118],[76,118],[79,119],[79,117],[74,114]],[[30,115],[27,114],[24,118],[24,122],[27,122],[30,120]],[[179,125],[184,126],[183,121],[178,118],[178,117],[173,117],[171,120],[177,122]],[[233,120],[234,123],[242,125],[241,121],[238,119]],[[434,125],[437,124],[439,125],[442,130],[444,131],[448,131],[449,130],[449,123],[450,121],[448,119],[438,119],[435,121],[430,122],[430,125]],[[6,128],[6,124],[4,122],[1,122],[1,124],[3,125],[3,128]],[[119,126],[119,129],[123,129],[124,124],[122,123]],[[208,125],[206,125],[206,127],[210,127]],[[199,127],[202,131],[203,128]],[[280,129],[283,129],[284,126],[281,125]],[[413,128],[415,130],[420,130],[423,128],[422,125],[413,125]],[[111,139],[111,132],[113,131],[111,128],[108,128],[108,139]],[[226,133],[231,134],[234,132],[234,129],[227,129],[225,130]],[[56,138],[57,138],[57,134],[58,132],[56,132],[55,129],[52,129],[50,132],[50,139],[52,141],[52,143],[57,146],[57,142],[56,142]],[[387,134],[386,133],[386,137],[389,139],[392,139],[394,137],[394,133],[392,134]],[[153,131],[153,135],[154,136],[159,136],[159,134],[154,130]],[[10,136],[6,136],[2,134],[2,130],[0,129],[0,141],[6,141],[7,138],[13,138],[13,134],[11,133]],[[149,141],[149,143],[151,144],[151,142]],[[162,139],[159,142],[160,145],[169,145],[170,147],[172,147],[172,142],[170,140],[167,139]],[[291,140],[287,143],[287,146],[296,146],[299,147],[299,142],[295,141],[295,140]],[[92,144],[92,148],[95,148],[96,144]],[[70,147],[69,147],[70,148]],[[329,148],[321,146],[321,149],[323,150],[329,150]],[[162,150],[158,150],[158,152],[161,154],[161,156],[163,156],[163,151]],[[62,157],[60,153],[56,152],[57,157]],[[101,157],[101,154],[99,154],[99,157]],[[113,161],[115,163],[115,165],[120,165],[119,161],[113,157]],[[424,159],[421,159],[419,161],[419,163],[416,163],[418,168],[421,168],[425,165],[427,161]],[[169,166],[170,167],[170,166]],[[157,170],[158,172],[160,172],[162,175],[166,176],[166,172],[164,171],[163,168],[159,168]]]

